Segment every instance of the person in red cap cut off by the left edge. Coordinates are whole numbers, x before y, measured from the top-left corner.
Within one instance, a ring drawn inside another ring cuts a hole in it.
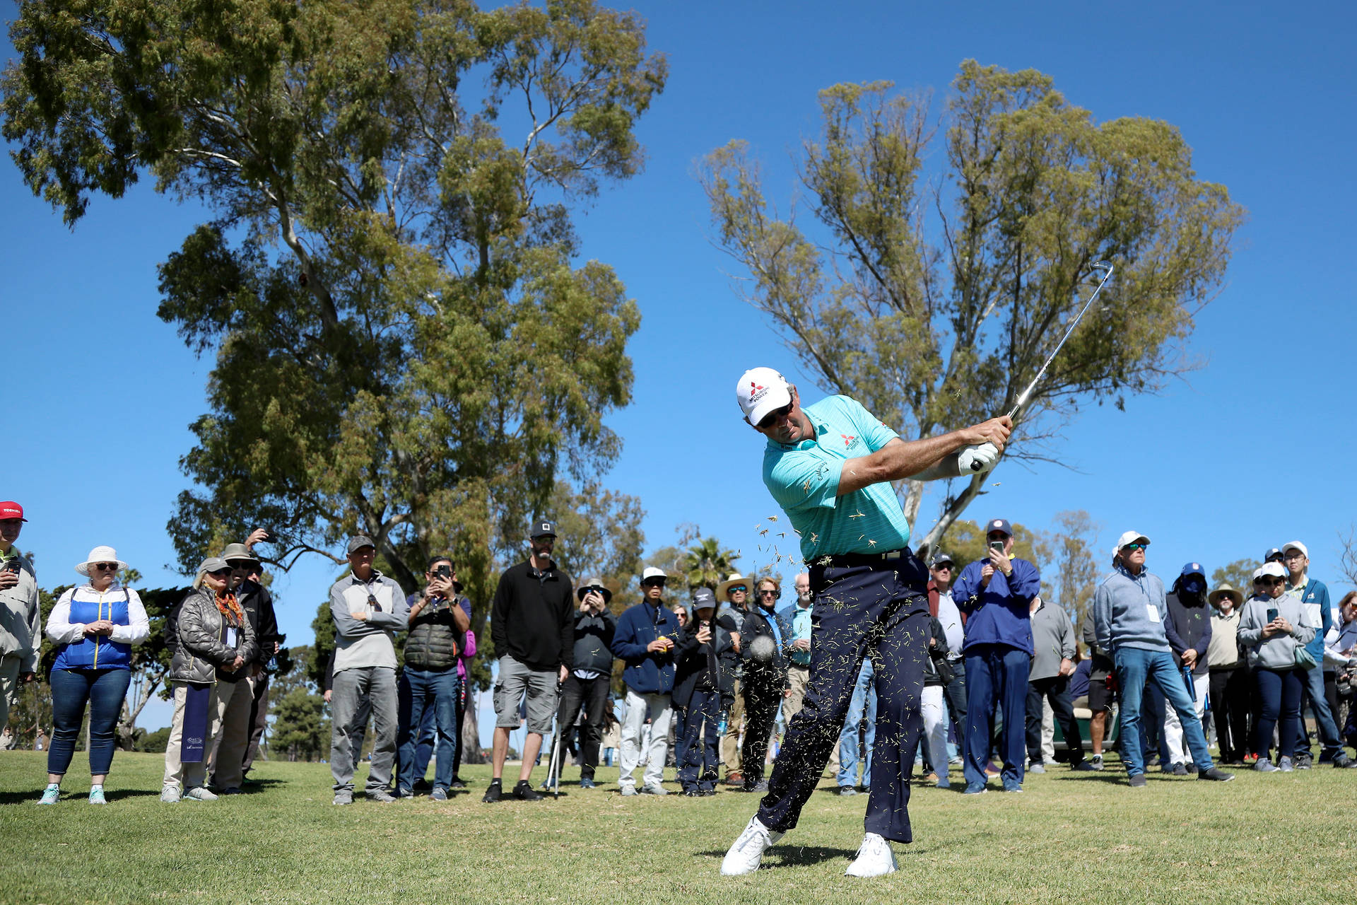
[[[19,682],[31,682],[42,643],[38,579],[14,541],[23,531],[23,506],[0,502],[0,730],[9,722],[9,700]]]

